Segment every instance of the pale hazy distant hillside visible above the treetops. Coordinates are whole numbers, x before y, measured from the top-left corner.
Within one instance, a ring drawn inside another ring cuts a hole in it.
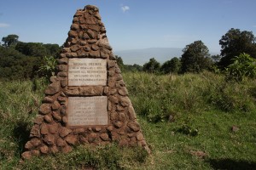
[[[114,54],[122,57],[125,65],[143,65],[153,57],[162,64],[173,57],[181,57],[183,52],[182,48],[144,48],[115,51]]]

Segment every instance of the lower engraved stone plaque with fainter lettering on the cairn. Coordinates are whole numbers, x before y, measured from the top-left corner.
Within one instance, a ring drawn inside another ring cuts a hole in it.
[[[69,97],[67,125],[108,125],[107,105],[107,96]]]

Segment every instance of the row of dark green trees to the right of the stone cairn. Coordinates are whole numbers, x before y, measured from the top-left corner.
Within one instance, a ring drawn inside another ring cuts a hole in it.
[[[174,57],[163,65],[151,58],[144,65],[124,65],[121,57],[117,57],[118,63],[124,71],[147,71],[150,73],[185,73],[208,71],[234,71],[234,68],[242,67],[242,71],[256,71],[256,38],[252,31],[240,31],[231,28],[219,40],[220,54],[209,54],[209,49],[201,41],[195,41],[183,48],[180,58]],[[239,57],[240,56],[240,57]],[[237,65],[240,62],[240,65]],[[242,66],[243,65],[243,66]],[[250,65],[245,67],[244,65]],[[236,71],[238,74],[238,71]],[[244,73],[246,74],[246,73]],[[253,73],[256,75],[256,72]]]

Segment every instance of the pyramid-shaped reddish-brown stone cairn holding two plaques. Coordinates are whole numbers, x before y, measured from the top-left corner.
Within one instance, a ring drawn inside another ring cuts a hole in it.
[[[148,150],[95,6],[87,5],[74,14],[57,68],[23,158],[67,153],[76,144],[113,141]]]

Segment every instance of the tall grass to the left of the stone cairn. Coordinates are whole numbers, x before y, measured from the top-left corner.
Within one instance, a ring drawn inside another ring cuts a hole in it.
[[[44,87],[42,80],[0,82],[0,161],[4,168],[20,159]]]

